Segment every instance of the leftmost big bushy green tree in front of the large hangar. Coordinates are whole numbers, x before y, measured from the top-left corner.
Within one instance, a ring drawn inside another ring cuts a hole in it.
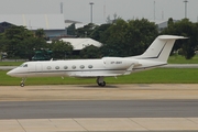
[[[34,50],[46,47],[43,30],[38,29],[35,35],[24,26],[11,26],[1,34],[3,41],[3,52],[8,53],[10,58],[29,58],[34,55]],[[1,43],[1,41],[0,41]]]

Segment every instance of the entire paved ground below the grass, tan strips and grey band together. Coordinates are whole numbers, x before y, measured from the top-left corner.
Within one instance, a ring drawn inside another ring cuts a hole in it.
[[[198,131],[197,84],[0,86],[0,131]]]

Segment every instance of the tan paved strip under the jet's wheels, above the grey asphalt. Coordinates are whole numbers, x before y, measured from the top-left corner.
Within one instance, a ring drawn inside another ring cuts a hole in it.
[[[198,99],[198,84],[0,86],[0,101]]]

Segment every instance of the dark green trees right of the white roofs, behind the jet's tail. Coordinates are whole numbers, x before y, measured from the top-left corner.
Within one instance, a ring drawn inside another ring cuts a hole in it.
[[[92,30],[94,29],[94,30]],[[173,47],[172,54],[179,54],[190,59],[198,50],[198,23],[188,19],[174,22],[170,18],[167,28],[161,30],[154,22],[146,19],[124,21],[118,19],[112,24],[88,24],[77,29],[77,36],[84,33],[101,42],[102,56],[133,56],[142,54],[158,35],[182,35],[188,40],[178,40]],[[99,56],[99,55],[98,55]]]

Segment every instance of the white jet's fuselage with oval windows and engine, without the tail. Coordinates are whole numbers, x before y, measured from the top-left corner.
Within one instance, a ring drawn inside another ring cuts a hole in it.
[[[119,76],[134,65],[129,58],[103,57],[102,59],[26,62],[8,73],[13,77],[74,76],[97,77]]]

